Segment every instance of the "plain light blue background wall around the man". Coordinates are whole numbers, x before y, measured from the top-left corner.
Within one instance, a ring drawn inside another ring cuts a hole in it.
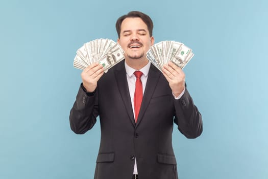
[[[69,128],[83,43],[117,39],[116,19],[150,15],[156,42],[195,56],[184,69],[200,138],[174,131],[179,177],[268,178],[267,1],[1,1],[0,178],[93,178],[99,123]],[[156,109],[157,110],[157,109]]]

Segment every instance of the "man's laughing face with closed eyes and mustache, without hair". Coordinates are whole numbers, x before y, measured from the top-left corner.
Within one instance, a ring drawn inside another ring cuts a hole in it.
[[[147,25],[139,17],[127,17],[121,24],[120,38],[117,42],[125,51],[126,60],[146,60],[146,53],[154,44]]]

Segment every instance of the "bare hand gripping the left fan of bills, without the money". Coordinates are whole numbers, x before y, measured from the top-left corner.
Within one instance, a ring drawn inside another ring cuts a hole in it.
[[[102,64],[98,62],[92,63],[81,73],[83,86],[87,92],[94,92],[97,87],[97,82],[104,74],[104,68]]]

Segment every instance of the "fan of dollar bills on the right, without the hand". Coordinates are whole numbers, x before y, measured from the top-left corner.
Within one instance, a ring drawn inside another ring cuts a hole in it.
[[[176,41],[160,41],[147,52],[147,58],[162,71],[163,65],[168,61],[174,62],[181,69],[194,56],[192,50],[181,42]]]

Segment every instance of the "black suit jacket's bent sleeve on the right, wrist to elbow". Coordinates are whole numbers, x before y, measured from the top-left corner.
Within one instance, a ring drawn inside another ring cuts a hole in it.
[[[202,116],[185,87],[185,92],[178,100],[174,99],[176,115],[174,122],[186,138],[193,139],[203,131]]]

